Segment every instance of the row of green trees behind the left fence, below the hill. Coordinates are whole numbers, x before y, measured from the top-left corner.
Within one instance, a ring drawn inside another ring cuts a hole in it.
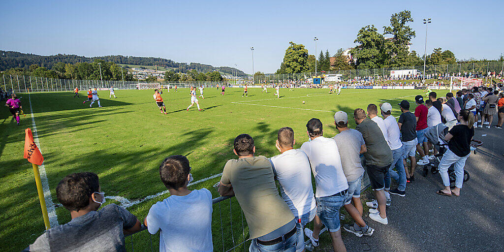
[[[100,76],[101,68],[101,76]],[[49,70],[45,67],[31,65],[28,68],[12,68],[2,72],[6,75],[31,75],[44,78],[54,79],[78,79],[78,80],[112,80],[119,81],[124,78],[124,81],[134,80],[133,76],[121,66],[101,59],[95,61],[78,62],[75,64],[57,62]]]

